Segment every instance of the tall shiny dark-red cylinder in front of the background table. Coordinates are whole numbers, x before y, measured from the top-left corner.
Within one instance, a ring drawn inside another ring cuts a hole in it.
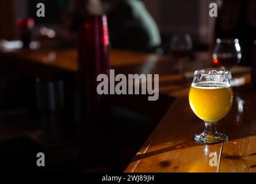
[[[78,31],[78,118],[97,121],[101,117],[101,96],[97,76],[109,76],[109,37],[106,16],[86,16]]]

